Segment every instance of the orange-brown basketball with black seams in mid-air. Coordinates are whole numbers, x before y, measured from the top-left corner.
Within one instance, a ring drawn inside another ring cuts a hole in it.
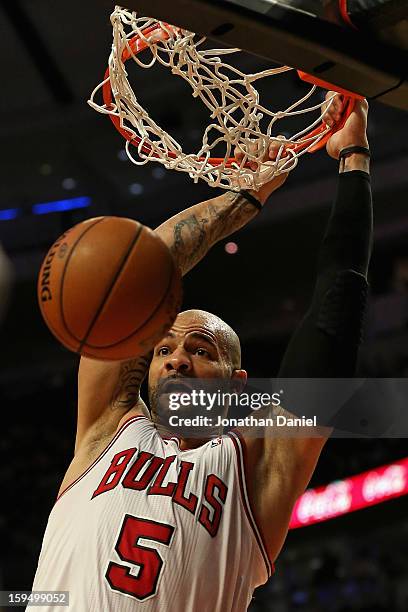
[[[37,289],[54,336],[71,351],[103,360],[147,353],[171,327],[182,295],[164,242],[120,217],[89,219],[60,236]]]

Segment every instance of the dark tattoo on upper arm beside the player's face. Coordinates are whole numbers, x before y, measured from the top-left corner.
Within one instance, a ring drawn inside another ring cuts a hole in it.
[[[151,355],[122,363],[111,406],[113,410],[130,410],[140,399],[140,387],[149,369]]]

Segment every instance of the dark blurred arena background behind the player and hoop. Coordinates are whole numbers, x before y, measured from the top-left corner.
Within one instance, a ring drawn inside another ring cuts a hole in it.
[[[0,8],[0,240],[14,270],[1,327],[1,589],[30,589],[73,452],[78,358],[59,346],[40,318],[36,276],[45,252],[86,218],[121,215],[155,227],[215,194],[158,165],[132,165],[110,121],[87,106],[111,45],[110,8],[96,0],[58,6],[13,0]],[[260,65],[254,57],[242,61],[251,71]],[[164,70],[135,73],[135,79],[150,114],[193,149],[207,117],[188,88]],[[288,75],[267,95],[283,105],[303,87]],[[376,229],[360,373],[405,377],[407,115],[373,102],[369,138]],[[276,374],[308,304],[336,172],[325,153],[304,157],[266,210],[232,238],[237,253],[218,244],[185,280],[184,308],[212,311],[235,327],[252,376]],[[61,201],[54,207],[67,210],[44,214],[35,206]],[[404,439],[331,440],[311,486],[407,455]],[[408,610],[407,509],[400,497],[291,531],[275,576],[255,593],[251,609]]]

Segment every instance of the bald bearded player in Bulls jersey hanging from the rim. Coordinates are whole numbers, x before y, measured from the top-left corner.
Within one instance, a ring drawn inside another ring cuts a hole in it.
[[[340,105],[338,96],[328,123],[338,120]],[[340,160],[338,193],[312,304],[282,377],[354,374],[372,234],[366,126],[367,103],[360,101],[327,144]],[[186,273],[258,214],[284,180],[249,200],[225,193],[193,206],[157,233]],[[148,370],[150,412],[139,396]],[[214,377],[244,384],[239,340],[199,310],[177,317],[151,361],[81,360],[75,456],[48,521],[34,590],[69,591],[75,612],[247,609],[273,572],[327,436],[160,435],[159,381],[177,388],[188,378]]]

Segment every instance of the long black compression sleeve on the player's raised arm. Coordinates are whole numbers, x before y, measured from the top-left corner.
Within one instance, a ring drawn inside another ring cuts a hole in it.
[[[311,306],[294,333],[279,378],[355,376],[373,233],[370,177],[339,175],[320,250]]]

